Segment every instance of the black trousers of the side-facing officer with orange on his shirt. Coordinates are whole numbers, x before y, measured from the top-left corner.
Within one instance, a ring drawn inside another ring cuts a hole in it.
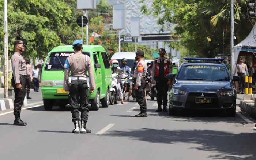
[[[136,78],[134,79],[134,82],[136,82]],[[138,102],[140,106],[140,111],[146,112],[147,111],[147,103],[145,99],[145,88],[146,88],[146,81],[145,79],[141,79],[140,81],[141,85],[138,87],[138,90],[136,90],[136,101]]]

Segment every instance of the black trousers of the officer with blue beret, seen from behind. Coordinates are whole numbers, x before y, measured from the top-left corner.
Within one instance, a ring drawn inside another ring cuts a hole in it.
[[[79,121],[79,111],[81,111],[81,120],[88,121],[89,93],[86,80],[73,80],[70,85],[68,95],[71,104],[72,121]],[[79,107],[80,102],[80,107]]]

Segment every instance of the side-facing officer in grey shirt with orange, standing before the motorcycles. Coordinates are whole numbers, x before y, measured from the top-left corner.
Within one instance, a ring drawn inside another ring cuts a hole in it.
[[[135,115],[135,117],[147,117],[147,103],[145,97],[145,88],[146,88],[146,73],[147,73],[147,64],[144,61],[144,52],[137,51],[135,60],[139,64],[135,67],[134,70],[134,83],[135,83],[135,92],[136,100],[140,105],[140,113]]]

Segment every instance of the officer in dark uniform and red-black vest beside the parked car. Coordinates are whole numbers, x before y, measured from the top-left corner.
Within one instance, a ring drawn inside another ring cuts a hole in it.
[[[162,111],[167,112],[167,91],[168,91],[168,80],[166,75],[172,73],[172,63],[170,59],[165,58],[165,49],[160,48],[158,50],[159,58],[155,59],[152,68],[152,84],[156,84],[157,88],[157,104],[158,109],[156,112]]]

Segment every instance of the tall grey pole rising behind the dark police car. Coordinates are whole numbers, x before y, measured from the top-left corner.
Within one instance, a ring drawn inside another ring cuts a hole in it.
[[[230,37],[230,62],[231,76],[234,74],[234,0],[231,0],[231,37]]]

